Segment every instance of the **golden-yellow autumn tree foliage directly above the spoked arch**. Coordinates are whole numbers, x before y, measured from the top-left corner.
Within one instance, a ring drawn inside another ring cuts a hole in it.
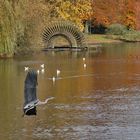
[[[91,12],[91,0],[49,0],[52,7],[52,17],[61,20],[69,20],[84,29],[83,20],[87,19]]]

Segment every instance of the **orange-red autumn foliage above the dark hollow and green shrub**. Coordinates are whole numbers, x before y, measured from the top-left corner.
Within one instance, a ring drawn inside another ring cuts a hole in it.
[[[135,6],[136,0],[92,0],[92,20],[94,24],[121,23],[135,29]]]

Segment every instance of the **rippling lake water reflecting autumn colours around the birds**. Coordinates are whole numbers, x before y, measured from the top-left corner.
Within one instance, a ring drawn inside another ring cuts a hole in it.
[[[43,63],[38,98],[55,99],[22,117],[24,67]],[[0,140],[140,139],[140,44],[0,60],[0,78]]]

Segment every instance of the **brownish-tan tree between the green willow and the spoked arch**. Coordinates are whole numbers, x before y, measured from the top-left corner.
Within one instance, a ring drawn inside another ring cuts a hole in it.
[[[53,20],[51,17],[51,8],[53,5],[45,0],[28,1],[26,9],[26,36],[28,46],[38,47],[42,45],[41,34],[45,26]]]

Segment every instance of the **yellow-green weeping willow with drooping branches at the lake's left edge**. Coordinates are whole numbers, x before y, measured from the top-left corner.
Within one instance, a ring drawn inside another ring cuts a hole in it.
[[[11,57],[20,35],[24,35],[26,0],[0,1],[0,56]]]

